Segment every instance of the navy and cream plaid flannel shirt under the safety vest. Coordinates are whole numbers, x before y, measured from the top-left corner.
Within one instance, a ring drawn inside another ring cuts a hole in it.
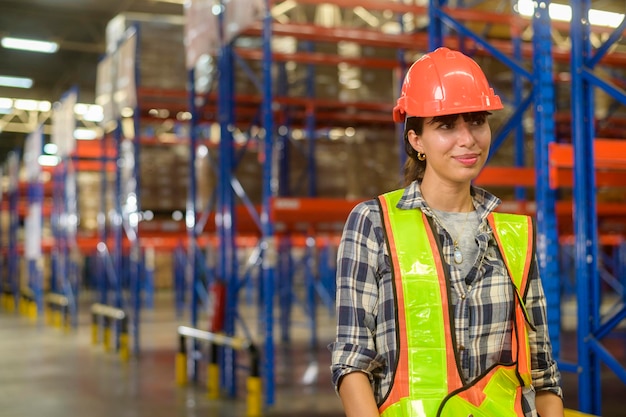
[[[496,247],[487,216],[499,204],[494,195],[472,187],[480,226],[478,257],[467,277],[453,266],[452,238],[437,223],[443,259],[450,268],[451,306],[466,382],[496,362],[511,361],[513,285]],[[408,186],[398,203],[400,209],[420,209],[433,217],[419,184]],[[452,266],[451,266],[452,265]],[[526,417],[536,417],[535,390],[550,390],[562,397],[561,376],[552,358],[546,324],[546,300],[536,262],[532,263],[525,299],[536,331],[529,330],[533,387],[524,389]],[[337,335],[332,351],[332,381],[361,371],[369,376],[377,403],[389,391],[397,357],[395,301],[392,267],[385,244],[377,200],[358,204],[350,213],[337,254]]]

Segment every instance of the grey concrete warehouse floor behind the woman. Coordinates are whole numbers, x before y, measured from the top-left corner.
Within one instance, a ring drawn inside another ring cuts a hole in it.
[[[215,401],[207,398],[201,384],[176,385],[176,328],[188,323],[176,318],[168,294],[156,298],[154,309],[143,311],[141,354],[128,362],[105,352],[103,346],[92,346],[88,306],[82,311],[78,329],[66,332],[0,309],[0,416],[245,417],[243,388],[236,399]],[[340,417],[324,347],[333,337],[334,319],[319,310],[315,351],[307,347],[309,333],[299,309],[294,322],[292,342],[276,349],[276,404],[264,415]],[[566,356],[573,359],[573,336],[565,335],[562,343]],[[626,340],[615,339],[612,344],[617,359],[626,361]],[[626,416],[621,405],[624,384],[603,372],[603,416]],[[566,406],[576,408],[576,376],[563,377]],[[245,384],[245,375],[239,382]]]

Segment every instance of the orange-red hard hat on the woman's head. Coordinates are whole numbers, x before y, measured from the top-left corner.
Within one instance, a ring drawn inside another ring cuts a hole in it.
[[[500,109],[500,97],[473,59],[438,48],[409,68],[393,108],[393,120],[403,122],[407,115],[435,117]]]

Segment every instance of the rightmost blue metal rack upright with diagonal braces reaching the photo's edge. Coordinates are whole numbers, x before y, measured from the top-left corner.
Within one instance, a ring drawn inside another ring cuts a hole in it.
[[[594,73],[594,69],[609,48],[622,36],[626,29],[626,19],[594,50],[587,18],[591,1],[576,0],[570,2],[570,5],[578,396],[581,411],[601,415],[601,366],[606,365],[626,384],[626,368],[602,345],[602,339],[626,318],[626,306],[622,305],[610,317],[602,317],[600,314],[602,290],[598,255],[598,212],[595,176],[592,175],[595,172],[594,88],[605,91],[622,105],[626,104],[626,93],[602,80]]]

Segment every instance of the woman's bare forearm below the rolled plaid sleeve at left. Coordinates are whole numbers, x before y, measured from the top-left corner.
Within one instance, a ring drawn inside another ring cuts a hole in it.
[[[346,417],[378,417],[378,407],[367,375],[351,372],[341,378],[339,397]]]

